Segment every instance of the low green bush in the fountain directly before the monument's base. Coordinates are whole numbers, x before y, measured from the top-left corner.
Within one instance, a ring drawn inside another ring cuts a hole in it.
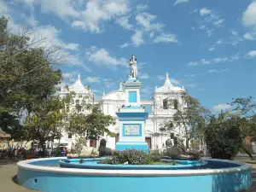
[[[129,165],[148,165],[152,162],[151,156],[141,150],[128,149],[125,151],[114,151],[111,159],[102,160],[103,164],[125,164]]]

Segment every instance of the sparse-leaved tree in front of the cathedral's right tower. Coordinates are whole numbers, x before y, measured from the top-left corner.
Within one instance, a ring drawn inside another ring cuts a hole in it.
[[[192,138],[203,137],[202,128],[205,125],[205,117],[209,111],[202,107],[197,99],[189,96],[189,94],[185,92],[177,96],[182,98],[182,102],[178,102],[178,97],[177,99],[171,99],[169,101],[176,109],[176,112],[172,120],[167,121],[164,127],[171,128],[171,130],[175,125],[183,127],[183,137],[186,138],[186,148],[189,148],[189,141]]]

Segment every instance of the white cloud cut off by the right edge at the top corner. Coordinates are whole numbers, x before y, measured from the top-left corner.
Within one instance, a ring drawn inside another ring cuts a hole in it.
[[[256,26],[256,1],[250,3],[243,13],[242,23],[244,26]]]

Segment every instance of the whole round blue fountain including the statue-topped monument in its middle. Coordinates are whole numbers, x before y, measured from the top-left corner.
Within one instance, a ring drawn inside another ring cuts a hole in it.
[[[147,158],[144,121],[148,113],[140,105],[136,59],[132,56],[131,75],[125,82],[126,104],[117,113],[120,139],[116,154],[129,150],[143,151]],[[252,185],[251,166],[231,160],[174,160],[173,154],[183,154],[183,145],[175,138],[174,145],[166,141],[164,159],[160,165],[131,165],[129,162],[109,164],[116,155],[101,158],[44,158],[17,163],[17,182],[28,189],[42,192],[238,192]],[[127,150],[128,149],[128,150]],[[102,140],[101,155],[111,154]],[[107,162],[107,163],[105,163]],[[165,164],[166,163],[166,164]]]

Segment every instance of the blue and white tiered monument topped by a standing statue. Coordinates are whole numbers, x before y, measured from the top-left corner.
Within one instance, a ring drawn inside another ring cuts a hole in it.
[[[116,150],[135,148],[148,153],[148,143],[145,141],[145,122],[148,113],[140,103],[142,82],[137,79],[137,60],[134,55],[130,60],[130,76],[123,83],[125,90],[125,106],[116,113],[119,118],[119,142]]]

